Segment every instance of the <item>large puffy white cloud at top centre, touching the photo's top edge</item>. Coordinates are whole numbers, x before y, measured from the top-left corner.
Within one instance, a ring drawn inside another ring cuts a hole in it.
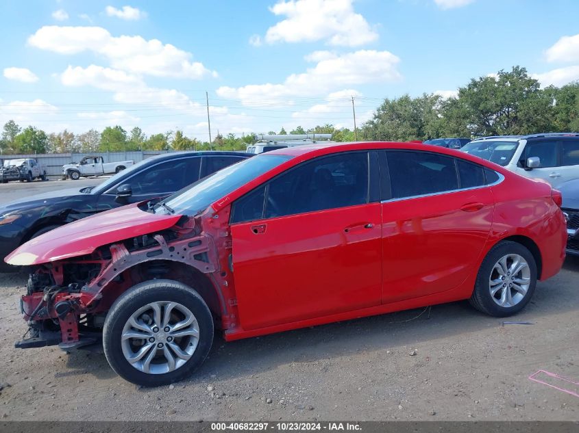
[[[315,42],[358,47],[378,39],[378,34],[361,14],[354,12],[353,0],[280,0],[269,10],[286,16],[269,27],[268,44],[276,42]]]

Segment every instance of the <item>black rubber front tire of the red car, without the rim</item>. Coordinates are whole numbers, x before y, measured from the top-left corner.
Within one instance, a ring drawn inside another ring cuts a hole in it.
[[[177,369],[168,373],[145,373],[131,365],[121,345],[123,328],[131,315],[151,302],[177,302],[197,319],[199,339],[195,352]],[[103,348],[112,369],[125,380],[141,386],[161,386],[190,376],[205,360],[213,342],[213,318],[199,293],[174,280],[150,280],[125,291],[112,304],[103,328]]]

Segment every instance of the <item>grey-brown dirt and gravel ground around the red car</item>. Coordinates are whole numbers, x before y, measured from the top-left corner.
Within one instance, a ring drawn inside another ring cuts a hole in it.
[[[579,382],[578,277],[569,257],[539,283],[510,318],[532,325],[502,326],[457,302],[430,317],[413,310],[233,343],[217,336],[195,376],[140,389],[103,354],[15,350],[26,276],[0,274],[0,419],[579,420],[578,397],[528,378],[543,369]]]

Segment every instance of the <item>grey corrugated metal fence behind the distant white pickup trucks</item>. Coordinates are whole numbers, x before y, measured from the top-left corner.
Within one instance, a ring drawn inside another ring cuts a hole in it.
[[[0,157],[0,163],[3,164],[5,159],[34,158],[38,163],[46,166],[49,176],[61,176],[62,166],[71,162],[78,162],[88,155],[103,157],[105,162],[126,161],[132,159],[135,163],[143,161],[149,157],[167,153],[167,150],[136,150],[134,152],[114,152],[114,153],[52,153],[39,155],[3,155]]]

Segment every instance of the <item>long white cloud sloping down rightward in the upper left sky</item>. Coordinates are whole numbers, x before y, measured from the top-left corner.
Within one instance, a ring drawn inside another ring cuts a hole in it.
[[[102,27],[45,26],[30,36],[28,43],[59,54],[93,51],[104,55],[113,68],[130,73],[188,79],[217,77],[200,62],[191,62],[191,53],[171,44],[141,36],[115,37]]]

